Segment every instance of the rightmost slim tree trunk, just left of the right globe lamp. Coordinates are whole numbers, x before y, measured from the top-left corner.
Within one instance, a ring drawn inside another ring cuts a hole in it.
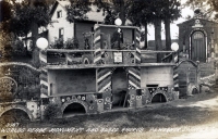
[[[166,50],[171,50],[170,20],[165,20]]]

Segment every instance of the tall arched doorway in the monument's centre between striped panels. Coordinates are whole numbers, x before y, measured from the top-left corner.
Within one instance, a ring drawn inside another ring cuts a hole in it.
[[[112,73],[112,108],[128,106],[128,75],[124,68],[118,67]]]

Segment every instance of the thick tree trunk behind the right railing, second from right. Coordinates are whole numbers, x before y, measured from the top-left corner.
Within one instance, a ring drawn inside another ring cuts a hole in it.
[[[155,45],[156,50],[162,50],[162,43],[161,43],[161,20],[156,18],[155,20]],[[161,62],[161,53],[157,54],[157,62]]]

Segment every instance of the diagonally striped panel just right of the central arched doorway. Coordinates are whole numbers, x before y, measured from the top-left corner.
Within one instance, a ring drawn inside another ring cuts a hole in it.
[[[129,67],[129,89],[141,88],[141,70],[140,67]]]

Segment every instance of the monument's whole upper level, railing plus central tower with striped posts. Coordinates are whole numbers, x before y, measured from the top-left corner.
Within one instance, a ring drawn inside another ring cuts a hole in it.
[[[53,70],[174,65],[173,51],[142,50],[140,39],[137,27],[96,24],[83,50],[47,49],[40,56]]]

